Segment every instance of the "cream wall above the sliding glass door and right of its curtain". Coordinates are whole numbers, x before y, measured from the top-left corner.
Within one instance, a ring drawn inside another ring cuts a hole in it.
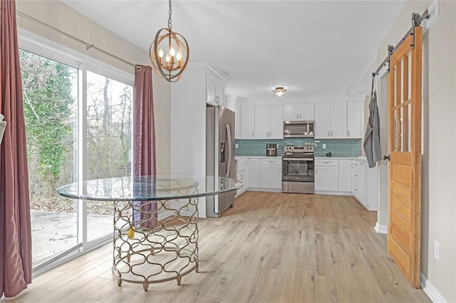
[[[98,48],[102,48],[124,60],[135,64],[150,65],[149,55],[144,50],[133,46],[123,38],[116,36],[115,33],[90,21],[85,16],[74,11],[70,7],[58,0],[16,0],[16,10],[28,16],[38,19],[50,26],[60,29],[66,33],[76,36],[83,41],[93,43]],[[19,28],[35,33],[66,46],[73,50],[95,59],[108,63],[116,68],[134,73],[133,67],[100,53],[98,50],[86,50],[86,46],[71,38],[61,35],[45,26],[41,26],[26,18],[17,16]],[[155,143],[157,157],[157,172],[159,174],[169,174],[170,172],[170,85],[156,75],[152,78],[154,111],[155,111]]]

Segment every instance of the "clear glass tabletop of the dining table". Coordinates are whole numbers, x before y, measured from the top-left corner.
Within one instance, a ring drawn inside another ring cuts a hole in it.
[[[216,176],[125,176],[67,184],[57,193],[93,201],[158,201],[214,196],[241,186],[239,181]]]

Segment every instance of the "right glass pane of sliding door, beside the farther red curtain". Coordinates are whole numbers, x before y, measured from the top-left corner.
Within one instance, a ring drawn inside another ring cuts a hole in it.
[[[87,72],[87,179],[130,176],[133,87]],[[113,232],[113,203],[87,205],[87,240]]]

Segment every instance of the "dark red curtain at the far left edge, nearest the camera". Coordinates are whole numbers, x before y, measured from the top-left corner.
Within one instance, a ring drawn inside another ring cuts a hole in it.
[[[0,9],[0,297],[14,297],[31,283],[30,201],[16,2],[0,0]]]

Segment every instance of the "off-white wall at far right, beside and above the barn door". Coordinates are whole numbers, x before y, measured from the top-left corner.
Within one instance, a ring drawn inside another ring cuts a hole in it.
[[[440,18],[423,36],[421,271],[447,302],[456,302],[456,2],[440,4]],[[388,44],[410,28],[412,12],[421,14],[429,5],[408,1],[378,49],[378,64]]]

